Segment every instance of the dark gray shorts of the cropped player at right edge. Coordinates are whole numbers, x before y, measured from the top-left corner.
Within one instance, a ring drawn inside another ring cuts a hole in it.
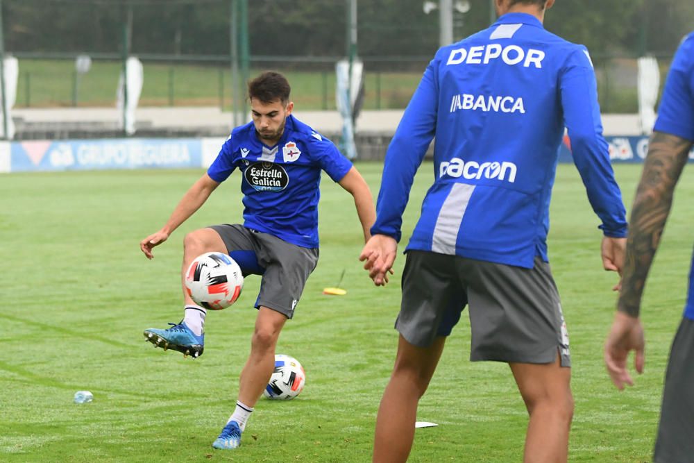
[[[694,462],[694,320],[686,317],[670,349],[653,461]]]

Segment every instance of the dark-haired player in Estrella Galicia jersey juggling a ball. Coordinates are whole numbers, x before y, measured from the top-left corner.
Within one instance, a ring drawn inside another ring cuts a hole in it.
[[[231,255],[244,276],[262,275],[251,353],[239,379],[237,406],[214,448],[240,445],[248,416],[272,374],[280,330],[294,315],[318,262],[321,171],[354,197],[365,241],[375,218],[364,178],[332,142],[291,115],[294,103],[289,101],[289,91],[287,79],[276,72],[265,72],[248,83],[253,121],[232,131],[217,159],[183,195],[167,223],[140,242],[142,252],[153,258],[154,246],[166,241],[232,171],[242,171],[244,224],[201,228],[184,239],[182,273],[198,255],[219,251]],[[271,185],[267,178],[273,179]],[[144,335],[155,345],[196,357],[203,352],[206,310],[192,301],[185,287],[183,298],[183,321],[167,330],[150,328]]]

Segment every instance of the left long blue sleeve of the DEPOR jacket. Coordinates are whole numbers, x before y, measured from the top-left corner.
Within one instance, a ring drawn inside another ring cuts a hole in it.
[[[376,201],[376,221],[371,235],[402,237],[403,212],[412,189],[414,174],[421,165],[436,130],[439,89],[434,61],[409,101],[386,152],[381,188]]]

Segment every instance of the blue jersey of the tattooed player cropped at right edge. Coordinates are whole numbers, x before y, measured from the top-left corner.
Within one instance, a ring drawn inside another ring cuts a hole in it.
[[[694,142],[694,33],[684,38],[672,60],[654,130]],[[694,320],[694,258],[684,316]]]

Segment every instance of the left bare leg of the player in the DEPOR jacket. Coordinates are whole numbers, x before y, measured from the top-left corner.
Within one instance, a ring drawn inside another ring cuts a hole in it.
[[[398,354],[376,418],[373,461],[405,462],[414,440],[419,398],[424,395],[439,363],[445,337],[426,348],[409,344],[400,335]]]

